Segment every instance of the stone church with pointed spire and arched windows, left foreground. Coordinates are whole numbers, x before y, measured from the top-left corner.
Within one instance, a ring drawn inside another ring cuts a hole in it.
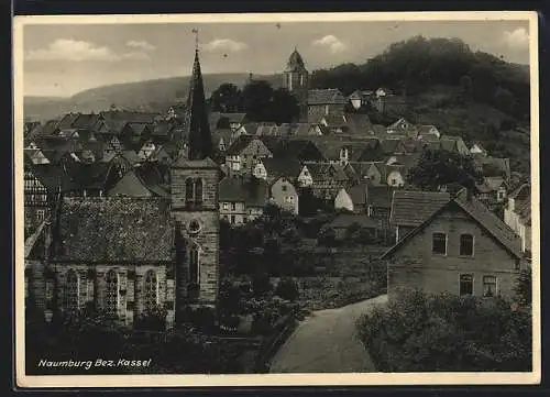
[[[25,242],[25,304],[46,319],[88,307],[132,327],[163,312],[167,328],[187,309],[217,307],[219,166],[195,51],[185,126],[170,168],[170,196],[64,197]]]

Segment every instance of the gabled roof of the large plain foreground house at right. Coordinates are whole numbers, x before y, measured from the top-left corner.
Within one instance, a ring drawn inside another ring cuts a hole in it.
[[[399,250],[399,247],[410,241],[413,236],[417,235],[420,231],[428,227],[443,210],[451,207],[462,209],[513,256],[516,258],[521,257],[521,241],[512,229],[509,229],[501,219],[498,219],[475,198],[472,197],[471,199],[466,199],[457,197],[454,199],[449,199],[444,205],[427,217],[410,233],[405,235],[404,239],[402,239],[397,244],[386,251],[386,253],[382,255],[382,258],[391,257],[396,251]]]

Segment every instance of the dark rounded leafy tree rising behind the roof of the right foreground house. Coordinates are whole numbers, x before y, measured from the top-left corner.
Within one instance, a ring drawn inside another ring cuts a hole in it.
[[[459,184],[473,191],[480,178],[472,157],[443,150],[425,151],[416,167],[408,173],[410,184],[427,190]]]

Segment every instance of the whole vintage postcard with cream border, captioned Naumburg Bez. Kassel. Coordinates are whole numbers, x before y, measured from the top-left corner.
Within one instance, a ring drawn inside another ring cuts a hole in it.
[[[535,12],[13,46],[20,387],[540,382]]]

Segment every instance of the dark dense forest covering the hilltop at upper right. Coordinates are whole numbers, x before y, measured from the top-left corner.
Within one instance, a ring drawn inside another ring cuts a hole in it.
[[[490,104],[516,120],[527,120],[530,109],[527,66],[473,52],[459,38],[415,36],[389,45],[364,64],[315,70],[311,85],[340,88],[344,95],[386,87],[407,97],[433,86],[452,86],[463,91],[464,99]]]

